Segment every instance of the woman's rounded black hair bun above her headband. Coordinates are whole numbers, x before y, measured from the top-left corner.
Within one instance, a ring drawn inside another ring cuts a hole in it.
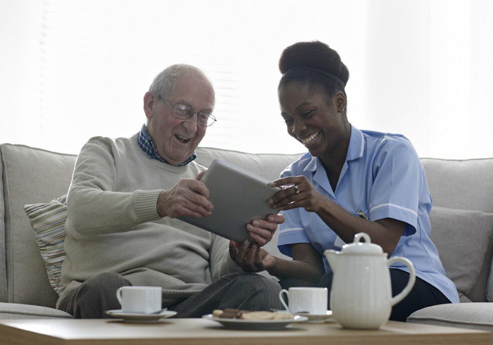
[[[349,79],[349,71],[339,54],[320,41],[298,42],[283,50],[279,59],[281,73],[295,67],[320,69],[334,74],[344,83]]]

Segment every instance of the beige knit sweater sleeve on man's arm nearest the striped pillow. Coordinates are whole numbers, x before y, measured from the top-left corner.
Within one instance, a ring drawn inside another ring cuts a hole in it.
[[[67,196],[71,228],[80,234],[125,232],[159,219],[162,190],[116,192],[116,169],[110,139],[92,138],[82,148]]]

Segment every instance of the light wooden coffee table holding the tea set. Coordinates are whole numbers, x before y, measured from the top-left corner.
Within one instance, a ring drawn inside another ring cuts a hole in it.
[[[490,332],[389,321],[379,330],[348,330],[336,323],[297,323],[284,330],[228,330],[206,319],[166,319],[155,324],[120,320],[0,320],[0,344],[485,344]]]

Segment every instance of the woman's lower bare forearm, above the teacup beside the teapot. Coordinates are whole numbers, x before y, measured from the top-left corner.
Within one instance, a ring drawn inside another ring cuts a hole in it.
[[[278,278],[295,278],[318,283],[325,273],[303,261],[275,258],[275,264],[267,269],[267,272]]]

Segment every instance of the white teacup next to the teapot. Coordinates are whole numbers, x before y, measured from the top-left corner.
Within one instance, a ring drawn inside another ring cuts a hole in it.
[[[283,294],[289,298],[289,307],[284,301]],[[289,291],[283,289],[279,292],[279,299],[286,310],[293,314],[308,312],[315,315],[325,315],[327,312],[326,288],[294,287],[289,288]]]

